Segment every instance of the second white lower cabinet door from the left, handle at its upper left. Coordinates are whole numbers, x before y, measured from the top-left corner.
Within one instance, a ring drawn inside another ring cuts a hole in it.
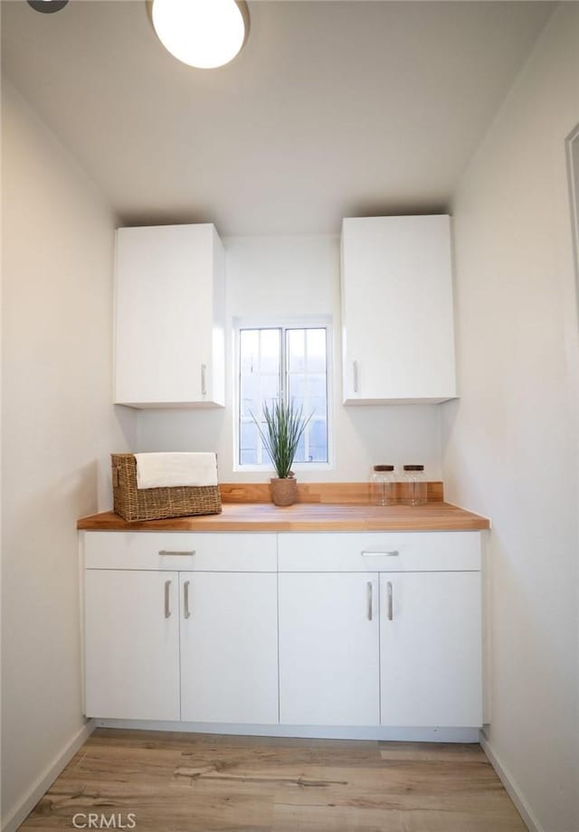
[[[181,572],[181,719],[278,722],[275,573]]]

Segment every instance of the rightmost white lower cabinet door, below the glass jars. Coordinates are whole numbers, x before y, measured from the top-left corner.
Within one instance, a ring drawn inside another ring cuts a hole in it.
[[[380,575],[382,724],[482,724],[479,572]]]

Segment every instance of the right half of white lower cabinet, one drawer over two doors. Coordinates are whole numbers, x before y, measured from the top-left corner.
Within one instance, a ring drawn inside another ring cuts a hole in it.
[[[482,724],[479,534],[279,534],[278,560],[281,723]]]

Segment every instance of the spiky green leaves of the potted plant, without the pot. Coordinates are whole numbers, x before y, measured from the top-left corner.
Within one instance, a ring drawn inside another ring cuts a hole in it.
[[[263,421],[260,422],[252,413],[252,420],[260,431],[264,448],[270,455],[273,467],[280,479],[293,477],[291,466],[298,450],[299,440],[313,413],[304,419],[303,408],[297,407],[293,401],[284,402],[280,399],[271,403],[263,402]]]

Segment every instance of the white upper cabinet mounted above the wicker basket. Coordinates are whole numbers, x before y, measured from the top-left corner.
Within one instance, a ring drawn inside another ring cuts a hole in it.
[[[120,228],[115,403],[224,405],[225,266],[214,225]]]

